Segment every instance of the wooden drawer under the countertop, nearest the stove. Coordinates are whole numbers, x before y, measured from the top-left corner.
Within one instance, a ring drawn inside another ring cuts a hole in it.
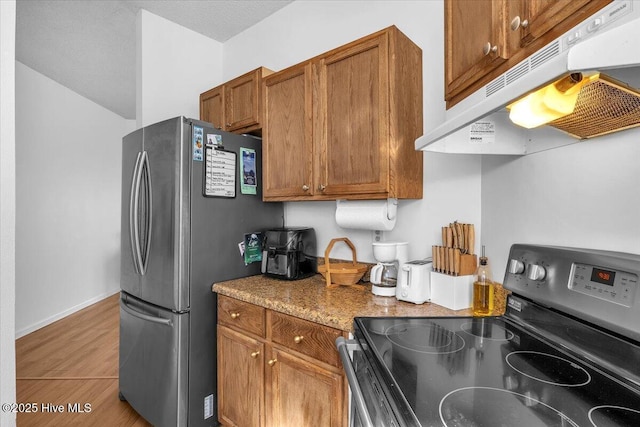
[[[330,365],[340,365],[335,341],[342,331],[275,311],[271,312],[270,328],[274,343]]]

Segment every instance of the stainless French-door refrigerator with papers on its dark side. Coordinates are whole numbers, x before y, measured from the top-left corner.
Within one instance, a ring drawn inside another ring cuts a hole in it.
[[[260,139],[184,117],[123,138],[119,394],[157,427],[217,425],[211,286],[259,274],[239,244],[283,225],[261,162]]]

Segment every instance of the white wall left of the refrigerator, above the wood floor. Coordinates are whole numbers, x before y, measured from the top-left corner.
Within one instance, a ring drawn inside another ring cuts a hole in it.
[[[16,62],[16,335],[120,287],[131,122]]]

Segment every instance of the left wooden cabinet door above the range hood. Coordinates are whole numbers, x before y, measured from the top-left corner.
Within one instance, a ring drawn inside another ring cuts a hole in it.
[[[519,36],[509,29],[507,0],[445,1],[445,99],[504,63]]]

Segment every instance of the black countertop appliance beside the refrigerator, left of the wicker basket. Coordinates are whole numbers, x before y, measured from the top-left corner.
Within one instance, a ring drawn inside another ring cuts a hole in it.
[[[262,273],[297,280],[318,271],[316,232],[310,227],[274,228],[265,232]]]

